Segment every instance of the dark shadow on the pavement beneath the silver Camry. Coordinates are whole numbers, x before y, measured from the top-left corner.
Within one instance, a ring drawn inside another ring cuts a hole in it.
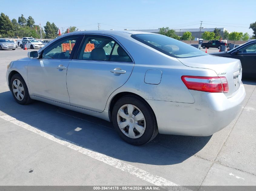
[[[40,101],[19,105],[10,91],[0,93],[0,115],[9,115],[84,148],[135,163],[178,164],[200,151],[211,139],[159,134],[152,142],[134,146],[124,142],[112,123]],[[57,138],[58,138],[57,137]]]

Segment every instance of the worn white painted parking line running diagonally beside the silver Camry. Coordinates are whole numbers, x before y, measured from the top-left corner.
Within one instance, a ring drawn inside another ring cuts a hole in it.
[[[115,159],[115,158],[112,158],[112,157],[109,157],[105,154],[101,154],[101,153],[98,153],[96,151],[93,151],[89,148],[85,148],[85,147],[82,147],[80,145],[77,145],[76,143],[74,142],[71,142],[67,139],[64,139],[62,137],[59,137],[57,135],[54,135],[52,133],[49,133],[47,131],[44,131],[42,129],[38,129],[38,128],[35,128],[33,126],[30,126],[28,125],[27,123],[24,123],[22,121],[19,121],[17,119],[15,119],[14,117],[12,116],[9,116],[9,115],[2,115],[0,116],[0,118],[2,119],[5,119],[6,121],[9,121],[15,125],[18,125],[20,127],[23,127],[24,129],[27,129],[29,131],[32,131],[38,135],[41,135],[45,138],[48,138],[54,142],[57,142],[61,145],[64,145],[68,148],[71,148],[75,151],[78,151],[82,154],[85,154],[91,158],[94,158],[98,161],[101,161],[101,162],[104,162],[112,167],[115,167],[115,168],[118,168],[122,171],[125,171],[125,172],[128,172],[130,174],[133,174],[135,175],[136,177],[138,178],[141,178],[142,180],[145,180],[149,183],[152,183],[156,186],[179,186],[178,184],[175,184],[171,181],[168,181],[166,180],[165,178],[162,178],[162,177],[159,177],[159,176],[156,176],[154,174],[151,174],[151,173],[148,173],[146,172],[145,170],[141,170],[135,166],[132,166],[130,164],[127,164],[127,163],[124,163],[123,161],[120,161],[118,159]],[[185,190],[188,190],[186,188],[184,188]]]

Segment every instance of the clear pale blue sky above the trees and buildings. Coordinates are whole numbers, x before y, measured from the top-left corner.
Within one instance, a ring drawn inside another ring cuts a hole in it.
[[[224,11],[224,12],[223,12]],[[36,24],[54,22],[64,31],[69,26],[79,30],[158,29],[160,27],[214,28],[229,31],[253,31],[256,21],[256,0],[2,0],[0,12],[12,20],[23,14],[32,16]]]

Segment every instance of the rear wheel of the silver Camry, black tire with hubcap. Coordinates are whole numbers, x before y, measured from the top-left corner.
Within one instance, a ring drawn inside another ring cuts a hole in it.
[[[118,135],[131,145],[146,144],[158,134],[153,110],[139,97],[121,97],[113,107],[112,122]]]

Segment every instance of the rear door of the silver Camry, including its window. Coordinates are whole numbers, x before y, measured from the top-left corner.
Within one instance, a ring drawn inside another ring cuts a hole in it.
[[[133,66],[131,56],[113,38],[85,35],[76,59],[68,65],[70,104],[96,112],[104,111],[108,97],[125,84]]]

